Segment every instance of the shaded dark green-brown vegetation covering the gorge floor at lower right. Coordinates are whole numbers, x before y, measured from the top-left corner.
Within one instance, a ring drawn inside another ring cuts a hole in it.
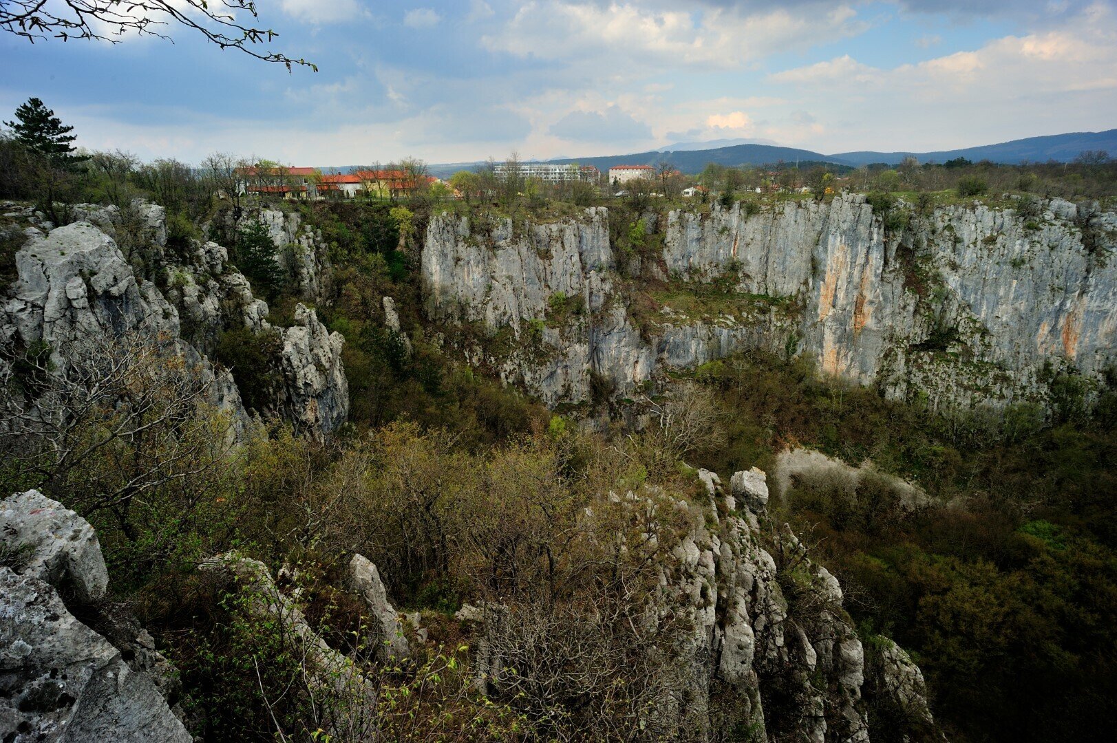
[[[915,656],[951,740],[1083,740],[1117,721],[1117,389],[1044,422],[1027,407],[929,415],[764,354],[713,362],[724,447],[694,460],[772,470],[787,442],[871,458],[934,498],[869,477],[795,484],[774,504],[839,577],[867,634]],[[1066,388],[1070,382],[1057,382]],[[1078,392],[1065,393],[1080,400]]]

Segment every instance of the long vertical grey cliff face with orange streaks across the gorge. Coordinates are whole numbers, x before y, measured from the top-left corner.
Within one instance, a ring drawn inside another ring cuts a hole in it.
[[[657,270],[675,283],[729,280],[736,304],[700,318],[663,306],[639,332],[603,210],[522,235],[510,221],[484,231],[436,217],[422,254],[427,309],[527,332],[537,347],[510,354],[503,373],[552,403],[588,397],[580,364],[623,392],[658,369],[742,347],[803,352],[827,373],[932,404],[1042,401],[1048,362],[1088,375],[1117,363],[1117,215],[1060,200],[1034,218],[1023,207],[891,210],[906,221],[886,227],[858,194],[672,211]],[[584,314],[537,341],[556,295],[580,297]]]

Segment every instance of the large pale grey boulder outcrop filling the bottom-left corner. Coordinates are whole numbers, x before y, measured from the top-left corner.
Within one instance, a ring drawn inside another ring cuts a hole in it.
[[[105,562],[93,528],[30,490],[0,502],[0,737],[168,741],[191,735],[168,706],[173,671],[146,632],[121,648],[71,613],[104,598]],[[64,601],[64,598],[66,599]],[[85,610],[84,613],[88,613]]]

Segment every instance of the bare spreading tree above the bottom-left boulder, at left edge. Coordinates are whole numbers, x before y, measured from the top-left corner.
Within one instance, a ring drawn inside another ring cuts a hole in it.
[[[137,503],[171,499],[188,514],[218,486],[233,446],[201,371],[173,339],[139,331],[9,349],[0,359],[0,487],[35,484],[83,514],[109,513],[131,541]]]

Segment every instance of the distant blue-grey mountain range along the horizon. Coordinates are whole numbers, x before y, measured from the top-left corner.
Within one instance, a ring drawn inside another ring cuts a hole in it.
[[[1075,132],[1070,134],[1052,134],[1049,136],[1031,136],[1024,140],[1013,140],[1000,144],[985,144],[961,150],[944,150],[939,152],[840,152],[822,154],[811,150],[782,147],[772,144],[732,144],[734,140],[716,140],[714,142],[682,142],[674,145],[674,150],[651,150],[626,155],[602,155],[594,158],[560,158],[545,162],[573,163],[593,165],[607,171],[613,165],[655,165],[670,163],[684,173],[698,173],[709,163],[720,165],[764,165],[783,162],[828,162],[838,165],[857,168],[869,163],[897,164],[904,158],[914,155],[919,162],[946,162],[955,158],[966,158],[977,162],[991,160],[997,163],[1020,164],[1023,162],[1070,162],[1086,150],[1105,150],[1117,156],[1117,128],[1105,132]],[[707,149],[698,149],[706,145]],[[714,146],[708,146],[714,145]],[[480,164],[475,163],[441,163],[430,166],[430,172],[445,178],[456,171]]]

